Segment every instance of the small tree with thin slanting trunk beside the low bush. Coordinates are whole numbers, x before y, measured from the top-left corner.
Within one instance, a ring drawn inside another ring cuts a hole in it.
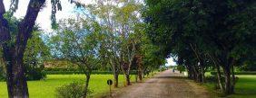
[[[94,67],[100,63],[99,46],[101,28],[90,19],[68,19],[60,22],[59,30],[51,38],[54,52],[76,64],[85,75],[84,97],[88,92],[90,76]]]

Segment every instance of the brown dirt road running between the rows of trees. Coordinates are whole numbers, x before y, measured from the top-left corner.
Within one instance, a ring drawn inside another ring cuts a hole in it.
[[[166,70],[146,80],[133,84],[113,94],[113,98],[212,98],[207,90],[184,78],[179,73]]]

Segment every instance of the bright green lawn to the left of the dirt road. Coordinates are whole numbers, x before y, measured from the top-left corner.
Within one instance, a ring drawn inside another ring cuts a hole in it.
[[[28,90],[31,98],[54,98],[55,88],[69,84],[73,81],[84,81],[84,75],[48,75],[45,80],[28,81]],[[134,76],[131,80],[134,81]],[[105,94],[109,90],[106,84],[107,79],[113,79],[113,75],[92,75],[89,88],[94,90],[93,96]],[[119,76],[119,85],[123,86],[124,76]],[[0,97],[7,98],[7,88],[5,82],[0,82]]]

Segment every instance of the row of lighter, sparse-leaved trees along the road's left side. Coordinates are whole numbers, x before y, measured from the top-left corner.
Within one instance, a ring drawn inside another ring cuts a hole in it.
[[[101,0],[78,8],[76,19],[59,22],[58,30],[50,37],[50,49],[55,58],[72,61],[83,70],[85,96],[94,67],[110,67],[114,87],[118,87],[120,73],[125,76],[125,84],[131,85],[132,68],[142,81],[144,72],[165,63],[145,35],[142,8],[141,1]]]

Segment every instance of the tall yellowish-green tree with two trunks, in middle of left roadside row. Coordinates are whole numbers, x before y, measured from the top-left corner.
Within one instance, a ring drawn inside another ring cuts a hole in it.
[[[118,85],[118,75],[120,69],[126,78],[126,85],[131,85],[130,69],[135,55],[135,43],[133,33],[135,25],[141,22],[140,1],[124,0],[102,0],[96,4],[89,4],[85,7],[105,30],[105,53],[109,57],[109,64],[114,75],[114,85]]]

